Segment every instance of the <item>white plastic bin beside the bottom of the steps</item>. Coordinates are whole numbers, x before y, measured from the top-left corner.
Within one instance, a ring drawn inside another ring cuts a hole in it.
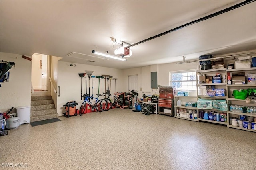
[[[30,106],[16,107],[17,116],[20,117],[20,125],[30,123]]]

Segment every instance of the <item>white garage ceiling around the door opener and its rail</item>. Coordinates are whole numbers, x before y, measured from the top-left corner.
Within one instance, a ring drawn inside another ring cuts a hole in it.
[[[111,36],[137,43],[240,2],[1,0],[1,51],[126,69],[254,50],[256,2],[136,45],[127,61],[92,57],[92,50],[114,55]],[[72,51],[85,55],[66,56]]]

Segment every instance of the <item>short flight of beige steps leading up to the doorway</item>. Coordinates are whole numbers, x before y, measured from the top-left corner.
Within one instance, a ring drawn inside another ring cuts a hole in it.
[[[52,96],[31,96],[30,122],[58,117]]]

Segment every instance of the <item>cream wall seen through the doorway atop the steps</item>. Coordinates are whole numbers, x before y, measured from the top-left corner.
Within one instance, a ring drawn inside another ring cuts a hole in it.
[[[42,88],[42,69],[40,68],[40,60],[42,60],[42,55],[32,55],[31,81],[34,89]]]

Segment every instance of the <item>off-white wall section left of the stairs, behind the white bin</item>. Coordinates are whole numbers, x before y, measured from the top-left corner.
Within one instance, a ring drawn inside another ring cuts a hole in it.
[[[7,112],[12,107],[30,106],[31,103],[31,61],[22,55],[1,52],[1,60],[15,62],[10,69],[9,82],[1,83],[0,110]],[[30,57],[31,56],[27,56]]]

